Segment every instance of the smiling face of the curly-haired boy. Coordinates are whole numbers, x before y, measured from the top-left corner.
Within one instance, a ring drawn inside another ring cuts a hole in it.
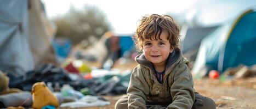
[[[173,52],[170,49],[169,40],[167,40],[168,34],[163,31],[158,40],[145,39],[143,41],[143,53],[147,60],[153,63],[154,66],[166,65],[166,59],[169,53]]]

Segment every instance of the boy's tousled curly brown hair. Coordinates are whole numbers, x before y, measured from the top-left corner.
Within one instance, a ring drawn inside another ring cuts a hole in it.
[[[144,39],[160,39],[160,35],[163,31],[168,33],[167,39],[170,43],[170,49],[180,49],[179,26],[174,22],[171,16],[157,14],[143,16],[143,18],[140,20],[139,26],[137,27],[135,35],[133,36],[136,48],[139,51],[142,51]]]

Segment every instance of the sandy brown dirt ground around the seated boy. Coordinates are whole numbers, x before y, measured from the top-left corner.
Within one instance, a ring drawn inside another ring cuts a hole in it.
[[[131,68],[134,65],[128,65]],[[212,98],[217,108],[256,108],[256,77],[230,79],[225,81],[202,78],[194,80],[195,89],[204,96]],[[103,96],[111,102],[110,105],[88,107],[89,109],[112,109],[115,102],[123,95]]]

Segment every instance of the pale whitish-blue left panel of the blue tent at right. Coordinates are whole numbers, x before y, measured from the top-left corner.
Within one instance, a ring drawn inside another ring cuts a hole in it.
[[[208,71],[200,72],[200,70],[207,66],[211,67],[209,69],[218,69],[219,51],[224,49],[223,46],[229,28],[230,25],[220,26],[215,32],[202,40],[192,69],[193,74],[203,73],[200,76],[204,76]]]

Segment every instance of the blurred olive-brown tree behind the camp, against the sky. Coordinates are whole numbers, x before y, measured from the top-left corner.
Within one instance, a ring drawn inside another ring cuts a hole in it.
[[[110,30],[105,14],[90,5],[84,5],[81,10],[71,6],[64,16],[55,17],[54,22],[58,27],[56,37],[68,38],[73,45],[81,41],[90,45]]]

